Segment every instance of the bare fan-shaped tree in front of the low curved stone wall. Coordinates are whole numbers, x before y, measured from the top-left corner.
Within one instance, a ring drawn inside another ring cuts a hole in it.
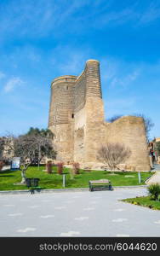
[[[117,165],[129,158],[130,154],[131,150],[121,143],[106,143],[99,149],[97,158],[108,165],[113,172]]]

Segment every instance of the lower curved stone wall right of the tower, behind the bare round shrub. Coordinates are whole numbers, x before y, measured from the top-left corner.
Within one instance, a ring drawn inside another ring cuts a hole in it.
[[[123,143],[131,149],[131,156],[126,161],[126,168],[128,170],[150,170],[146,131],[142,118],[124,116],[111,124],[107,123],[106,142]]]

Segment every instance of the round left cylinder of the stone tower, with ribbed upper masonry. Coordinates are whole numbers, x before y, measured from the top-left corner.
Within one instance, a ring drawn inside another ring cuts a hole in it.
[[[73,159],[74,90],[76,76],[63,76],[51,84],[49,129],[54,133],[57,160]]]

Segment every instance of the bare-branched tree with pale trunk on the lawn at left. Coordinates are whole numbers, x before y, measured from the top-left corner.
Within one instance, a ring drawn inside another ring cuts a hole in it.
[[[10,143],[10,141],[13,143]],[[26,170],[28,166],[35,162],[35,158],[38,159],[39,163],[43,156],[53,159],[56,157],[52,139],[41,134],[19,137],[8,136],[8,145],[14,150],[14,156],[20,157],[21,183],[26,183]]]

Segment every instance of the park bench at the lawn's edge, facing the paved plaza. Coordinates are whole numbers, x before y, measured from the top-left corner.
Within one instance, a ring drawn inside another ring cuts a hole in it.
[[[94,190],[113,190],[108,179],[89,180],[89,191]]]

